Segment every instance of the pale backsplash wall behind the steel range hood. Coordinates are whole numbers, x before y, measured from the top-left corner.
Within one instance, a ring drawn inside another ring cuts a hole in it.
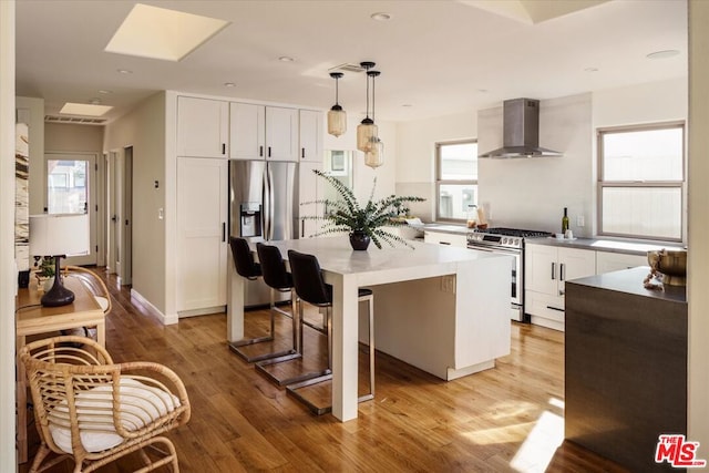
[[[540,102],[540,146],[563,156],[479,161],[479,203],[493,226],[561,232],[568,207],[574,234],[589,236],[576,225],[593,208],[590,94]],[[502,146],[502,106],[477,114],[481,153]]]

